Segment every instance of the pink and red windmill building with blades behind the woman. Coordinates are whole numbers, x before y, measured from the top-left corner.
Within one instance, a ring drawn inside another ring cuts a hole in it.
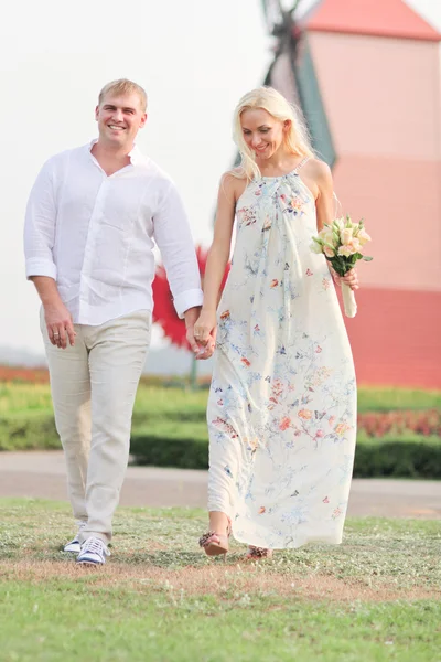
[[[266,83],[300,106],[374,237],[347,321],[357,381],[439,388],[441,244],[428,237],[440,235],[441,34],[407,0],[292,3],[260,3],[275,42]]]

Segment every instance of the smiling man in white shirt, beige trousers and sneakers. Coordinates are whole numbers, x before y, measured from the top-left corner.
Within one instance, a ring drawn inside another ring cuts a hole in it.
[[[66,552],[104,564],[129,456],[132,407],[150,341],[153,239],[178,314],[193,325],[202,290],[189,223],[174,184],[135,147],[146,92],[106,85],[98,139],[42,168],[26,209],[26,277],[42,301],[56,428],[78,524]]]

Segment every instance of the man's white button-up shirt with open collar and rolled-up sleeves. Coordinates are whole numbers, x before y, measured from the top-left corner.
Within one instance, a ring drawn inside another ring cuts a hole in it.
[[[36,178],[24,224],[26,277],[54,278],[74,323],[103,324],[152,310],[157,243],[183,317],[203,296],[176,188],[137,147],[130,164],[108,177],[92,145],[52,157]]]

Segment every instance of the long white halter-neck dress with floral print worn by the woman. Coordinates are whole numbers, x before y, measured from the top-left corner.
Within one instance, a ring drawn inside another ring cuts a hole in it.
[[[340,543],[356,435],[351,348],[315,203],[294,171],[251,182],[236,211],[208,399],[208,509],[267,548]]]

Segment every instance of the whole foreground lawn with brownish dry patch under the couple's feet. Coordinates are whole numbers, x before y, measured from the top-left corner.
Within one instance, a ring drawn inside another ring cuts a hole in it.
[[[247,565],[196,547],[197,510],[125,509],[96,572],[65,504],[0,500],[3,662],[440,662],[439,522],[353,520],[336,547]]]

